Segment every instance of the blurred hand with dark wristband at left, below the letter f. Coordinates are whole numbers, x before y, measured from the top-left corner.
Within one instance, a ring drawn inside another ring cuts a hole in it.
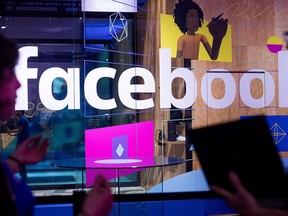
[[[42,139],[42,136],[30,137],[16,148],[12,157],[18,159],[23,165],[36,164],[46,155],[48,146],[48,138]]]

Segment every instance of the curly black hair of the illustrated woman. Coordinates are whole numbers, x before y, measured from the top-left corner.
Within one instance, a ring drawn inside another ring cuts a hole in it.
[[[179,27],[180,31],[185,34],[188,31],[186,26],[186,17],[189,10],[195,9],[199,15],[199,27],[202,26],[204,20],[204,13],[200,6],[192,0],[179,0],[179,3],[175,4],[173,11],[174,22]]]

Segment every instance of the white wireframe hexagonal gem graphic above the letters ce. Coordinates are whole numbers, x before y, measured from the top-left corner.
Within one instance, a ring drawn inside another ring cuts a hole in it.
[[[109,32],[118,42],[128,37],[128,22],[121,13],[109,16]]]

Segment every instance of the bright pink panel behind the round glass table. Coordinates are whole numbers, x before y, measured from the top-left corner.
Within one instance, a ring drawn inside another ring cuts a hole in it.
[[[139,171],[133,166],[153,165],[153,158],[153,121],[85,131],[86,186],[99,173],[107,179],[117,178]]]

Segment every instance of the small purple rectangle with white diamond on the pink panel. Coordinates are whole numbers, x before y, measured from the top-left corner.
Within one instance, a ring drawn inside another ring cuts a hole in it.
[[[128,159],[128,136],[112,138],[112,158]]]

